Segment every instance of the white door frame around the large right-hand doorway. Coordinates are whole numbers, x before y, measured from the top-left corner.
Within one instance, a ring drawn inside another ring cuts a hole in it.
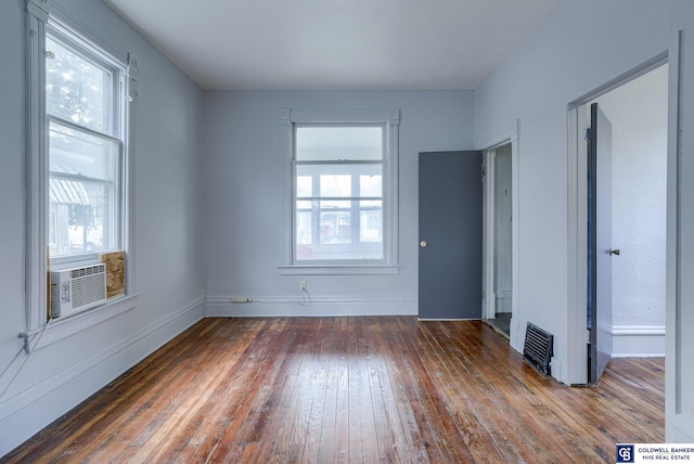
[[[596,98],[614,90],[644,74],[667,64],[669,66],[668,85],[668,219],[667,219],[667,283],[666,300],[674,301],[676,287],[671,281],[678,280],[674,269],[677,259],[677,243],[672,232],[677,229],[677,198],[672,192],[678,192],[678,131],[679,114],[679,38],[669,50],[666,50],[639,66],[617,76],[615,79],[588,92],[567,107],[567,133],[568,133],[568,169],[567,169],[567,225],[568,225],[568,269],[567,269],[567,369],[566,384],[586,385],[588,383],[588,331],[586,328],[588,295],[588,185],[586,182],[587,169],[587,142],[583,137],[584,128],[590,126],[590,112],[588,103]],[[672,56],[672,59],[669,59]],[[672,168],[674,166],[674,168]],[[674,206],[673,206],[674,204]],[[674,258],[673,258],[674,256]],[[668,302],[666,313],[674,311]],[[678,308],[679,310],[679,308]],[[666,317],[669,317],[667,315]],[[669,331],[666,332],[666,344]]]

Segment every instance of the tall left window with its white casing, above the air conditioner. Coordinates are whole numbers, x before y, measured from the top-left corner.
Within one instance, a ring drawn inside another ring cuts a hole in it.
[[[27,331],[46,323],[47,270],[132,247],[129,139],[137,64],[51,0],[27,0]],[[131,257],[130,257],[131,258]],[[131,287],[126,259],[124,286]]]

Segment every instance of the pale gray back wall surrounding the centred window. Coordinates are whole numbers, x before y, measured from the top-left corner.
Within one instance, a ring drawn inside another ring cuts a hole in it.
[[[400,108],[397,275],[281,275],[285,170],[279,114]],[[417,153],[473,145],[470,91],[257,91],[205,94],[208,314],[416,314]],[[299,280],[311,305],[298,305]],[[232,305],[232,297],[257,304]],[[292,302],[294,301],[294,302]]]

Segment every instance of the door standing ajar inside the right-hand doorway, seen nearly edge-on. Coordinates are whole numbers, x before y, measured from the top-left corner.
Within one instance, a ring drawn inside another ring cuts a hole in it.
[[[612,124],[593,103],[588,140],[589,382],[612,358]]]

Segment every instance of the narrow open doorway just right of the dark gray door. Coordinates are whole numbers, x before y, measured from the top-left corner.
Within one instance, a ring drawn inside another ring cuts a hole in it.
[[[511,338],[513,317],[512,143],[485,152],[485,320]]]

